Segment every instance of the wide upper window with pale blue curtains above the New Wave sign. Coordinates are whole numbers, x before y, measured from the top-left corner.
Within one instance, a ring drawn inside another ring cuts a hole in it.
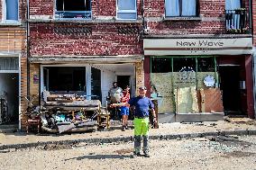
[[[197,16],[198,0],[165,0],[165,15],[171,17]]]

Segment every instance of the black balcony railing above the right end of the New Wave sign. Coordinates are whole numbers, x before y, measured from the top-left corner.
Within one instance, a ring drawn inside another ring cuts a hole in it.
[[[226,33],[250,33],[248,17],[244,8],[225,10]]]

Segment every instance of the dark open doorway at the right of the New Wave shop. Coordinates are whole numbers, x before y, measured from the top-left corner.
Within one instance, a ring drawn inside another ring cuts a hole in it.
[[[220,66],[220,89],[223,92],[225,115],[244,114],[240,90],[240,66]]]

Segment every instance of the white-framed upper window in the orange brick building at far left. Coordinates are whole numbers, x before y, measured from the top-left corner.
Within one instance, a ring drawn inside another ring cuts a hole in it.
[[[17,22],[19,17],[18,0],[3,1],[3,20],[6,22]]]

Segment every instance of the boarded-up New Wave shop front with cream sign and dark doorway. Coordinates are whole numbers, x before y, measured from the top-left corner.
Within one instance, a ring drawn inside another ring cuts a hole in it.
[[[169,121],[251,115],[251,38],[145,39],[145,84]]]

